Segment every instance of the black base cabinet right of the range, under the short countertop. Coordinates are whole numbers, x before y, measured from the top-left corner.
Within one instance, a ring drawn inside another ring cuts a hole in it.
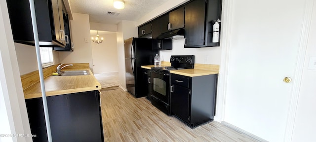
[[[171,75],[171,115],[196,128],[215,115],[218,74],[196,77]]]

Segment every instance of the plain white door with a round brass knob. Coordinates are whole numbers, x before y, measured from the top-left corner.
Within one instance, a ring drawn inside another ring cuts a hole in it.
[[[231,1],[224,121],[269,142],[284,140],[305,1]]]

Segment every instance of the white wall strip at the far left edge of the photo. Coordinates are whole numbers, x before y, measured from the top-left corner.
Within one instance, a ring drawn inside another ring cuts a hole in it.
[[[6,0],[0,0],[0,134],[31,134]],[[3,138],[1,142],[32,142]]]

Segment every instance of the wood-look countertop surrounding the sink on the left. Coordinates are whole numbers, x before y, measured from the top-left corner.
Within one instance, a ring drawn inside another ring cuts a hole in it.
[[[90,75],[48,76],[44,79],[46,96],[101,90],[101,84],[89,68],[65,68],[62,71],[89,71]],[[40,98],[40,82],[24,90],[25,99]]]

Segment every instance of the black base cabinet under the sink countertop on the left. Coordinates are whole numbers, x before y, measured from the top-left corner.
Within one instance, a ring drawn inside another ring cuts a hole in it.
[[[33,142],[48,142],[42,98],[27,99]],[[104,142],[99,91],[47,97],[53,142]]]

